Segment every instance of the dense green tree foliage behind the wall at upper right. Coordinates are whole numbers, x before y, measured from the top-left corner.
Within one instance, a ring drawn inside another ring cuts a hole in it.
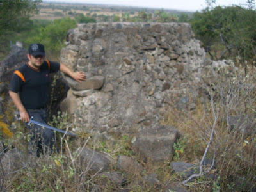
[[[216,59],[239,56],[242,60],[253,60],[256,53],[255,19],[255,10],[217,6],[196,12],[191,25],[206,50],[223,47],[221,52],[215,53]]]

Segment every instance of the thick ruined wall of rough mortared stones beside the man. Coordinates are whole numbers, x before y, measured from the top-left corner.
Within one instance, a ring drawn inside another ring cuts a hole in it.
[[[170,106],[195,108],[205,52],[189,24],[79,24],[61,63],[88,76],[82,84],[66,77],[61,109],[73,129],[113,138],[157,125]]]

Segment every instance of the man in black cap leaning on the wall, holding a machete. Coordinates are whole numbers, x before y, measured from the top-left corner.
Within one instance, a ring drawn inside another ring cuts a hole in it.
[[[19,109],[22,122],[29,122],[30,117],[33,116],[33,120],[45,124],[49,74],[60,70],[79,83],[86,80],[86,75],[84,72],[73,72],[61,63],[44,60],[45,50],[42,44],[31,44],[28,52],[28,63],[20,66],[13,73],[9,94]],[[54,150],[54,132],[51,129],[39,125],[33,125],[33,127],[25,125],[33,133],[31,143],[36,143],[37,156],[39,156],[39,149],[50,150],[50,152]]]

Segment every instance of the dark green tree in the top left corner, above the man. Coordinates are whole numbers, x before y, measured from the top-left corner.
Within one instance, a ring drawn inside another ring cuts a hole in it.
[[[29,17],[36,13],[42,0],[0,0],[0,36],[8,31],[21,31],[29,26]]]

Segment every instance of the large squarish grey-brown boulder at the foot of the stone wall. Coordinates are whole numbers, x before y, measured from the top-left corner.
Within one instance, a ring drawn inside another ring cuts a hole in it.
[[[173,155],[173,144],[177,138],[179,138],[179,132],[174,127],[147,127],[138,133],[133,147],[146,159],[154,162],[170,161]]]

